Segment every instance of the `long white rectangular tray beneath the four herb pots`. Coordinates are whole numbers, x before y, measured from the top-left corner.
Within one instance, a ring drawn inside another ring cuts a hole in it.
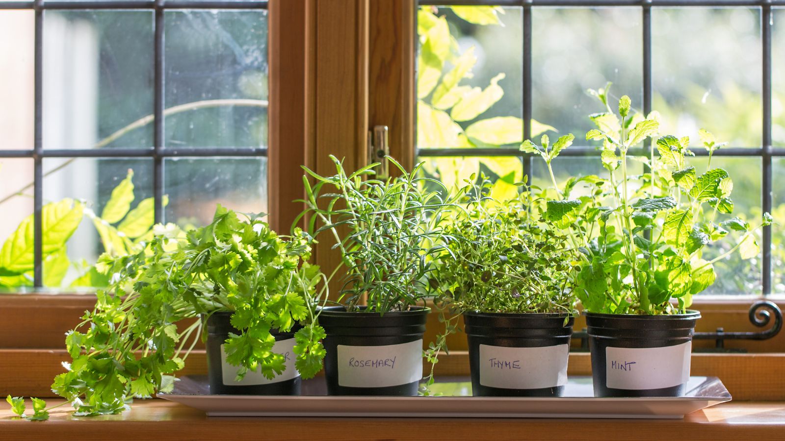
[[[210,417],[511,417],[682,418],[731,400],[717,377],[690,377],[679,397],[595,398],[590,377],[571,377],[560,397],[471,396],[468,378],[444,378],[441,396],[327,396],[323,378],[304,381],[303,395],[210,395],[206,377],[182,377],[159,393]]]

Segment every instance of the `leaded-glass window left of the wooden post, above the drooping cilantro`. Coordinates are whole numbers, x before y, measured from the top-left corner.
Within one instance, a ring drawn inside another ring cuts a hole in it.
[[[0,289],[101,286],[154,223],[267,211],[266,8],[0,1]]]

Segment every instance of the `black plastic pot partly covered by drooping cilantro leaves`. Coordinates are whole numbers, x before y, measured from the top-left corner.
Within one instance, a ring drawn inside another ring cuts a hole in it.
[[[215,312],[207,319],[207,375],[211,395],[300,395],[300,374],[294,367],[294,333],[272,330],[276,337],[273,352],[286,358],[287,368],[272,380],[261,372],[247,372],[243,380],[236,381],[238,367],[226,362],[224,344],[229,333],[239,335],[239,330],[230,323],[231,312]]]

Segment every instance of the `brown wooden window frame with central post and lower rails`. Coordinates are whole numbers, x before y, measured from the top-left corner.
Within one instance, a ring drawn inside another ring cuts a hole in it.
[[[290,202],[304,193],[300,166],[330,173],[330,154],[345,158],[349,168],[362,166],[371,126],[389,126],[391,155],[414,164],[415,7],[415,0],[270,0],[268,195],[276,231],[288,231],[303,208]],[[326,246],[317,247],[315,259],[323,268],[338,264]],[[697,297],[695,308],[703,314],[698,330],[759,331],[747,319],[755,300]],[[0,391],[50,395],[51,378],[68,359],[63,333],[93,304],[85,294],[0,295]],[[436,315],[431,323],[433,335]],[[450,344],[437,374],[468,374],[465,337],[456,334]],[[785,399],[779,372],[785,333],[727,346],[750,353],[696,354],[693,374],[721,374],[737,398]],[[571,355],[570,373],[589,374],[587,357]],[[205,370],[203,348],[197,348],[182,374]]]

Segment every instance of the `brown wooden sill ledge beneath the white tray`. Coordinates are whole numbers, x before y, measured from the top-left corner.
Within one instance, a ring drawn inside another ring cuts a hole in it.
[[[57,404],[53,401],[51,404]],[[28,403],[29,407],[29,403]],[[5,439],[780,439],[785,402],[725,403],[683,420],[206,417],[160,399],[137,401],[124,414],[71,417],[54,410],[49,421],[13,419],[0,404]],[[102,437],[103,437],[102,436]]]

